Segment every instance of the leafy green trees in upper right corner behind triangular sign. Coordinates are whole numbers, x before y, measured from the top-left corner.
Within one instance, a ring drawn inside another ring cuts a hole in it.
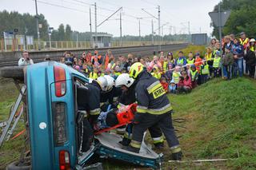
[[[220,6],[221,10],[231,10],[230,18],[228,18],[222,34],[238,36],[241,32],[245,32],[250,38],[256,37],[255,0],[222,0]],[[218,5],[214,6],[214,12],[218,12]],[[218,28],[216,26],[214,26],[213,35],[218,38]]]

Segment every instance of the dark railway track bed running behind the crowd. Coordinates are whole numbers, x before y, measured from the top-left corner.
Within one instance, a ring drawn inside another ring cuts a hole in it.
[[[174,45],[161,45],[162,51],[174,51],[177,49],[183,49],[187,44],[174,44]],[[137,46],[137,47],[123,47],[123,48],[110,48],[115,57],[120,55],[126,55],[127,53],[133,53],[134,55],[140,55],[146,57],[148,55],[153,55],[154,51],[158,51],[158,45],[148,45],[148,46]],[[74,53],[75,56],[81,57],[83,51],[88,51],[93,49],[73,49],[69,50]],[[97,49],[98,53],[105,54],[106,48]],[[51,60],[59,61],[62,53],[66,50],[56,50],[56,51],[38,51],[30,52],[30,57],[33,59],[34,63],[41,62],[46,57],[46,54],[50,56]],[[17,52],[19,56],[22,55],[21,52]],[[18,57],[7,57],[5,59],[0,58],[0,67],[3,66],[15,66],[18,65]]]

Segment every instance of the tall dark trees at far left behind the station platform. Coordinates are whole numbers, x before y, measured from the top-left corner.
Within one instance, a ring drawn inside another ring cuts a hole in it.
[[[3,32],[14,31],[18,29],[16,34],[22,35],[32,35],[37,39],[37,26],[36,26],[36,16],[31,14],[19,14],[16,11],[8,12],[6,10],[0,11],[0,37],[3,38]],[[44,41],[49,40],[48,27],[49,23],[43,14],[38,15],[38,23],[42,25],[39,28],[40,39]],[[90,41],[90,32],[78,32],[71,29],[71,26],[66,24],[60,24],[58,28],[54,28],[51,34],[52,41],[76,41],[78,36],[78,41],[88,42]]]

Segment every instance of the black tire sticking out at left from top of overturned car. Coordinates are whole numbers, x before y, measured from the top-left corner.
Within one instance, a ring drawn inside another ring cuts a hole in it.
[[[24,67],[19,67],[19,66],[2,67],[0,68],[0,77],[24,80],[23,68]]]

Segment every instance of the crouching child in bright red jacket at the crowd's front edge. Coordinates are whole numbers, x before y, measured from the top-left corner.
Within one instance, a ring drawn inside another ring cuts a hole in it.
[[[180,78],[180,81],[178,81],[178,93],[190,93],[192,89],[191,79],[187,75],[186,71],[182,71],[182,77]]]

